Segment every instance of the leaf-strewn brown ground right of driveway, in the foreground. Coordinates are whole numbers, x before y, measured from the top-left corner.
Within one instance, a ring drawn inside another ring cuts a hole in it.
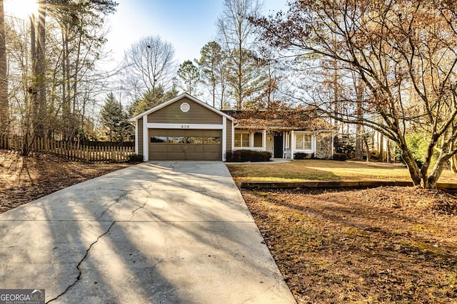
[[[457,197],[242,190],[298,303],[457,303]]]

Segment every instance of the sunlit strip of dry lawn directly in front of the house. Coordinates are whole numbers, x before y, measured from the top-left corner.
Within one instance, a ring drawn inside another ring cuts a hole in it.
[[[241,182],[303,180],[396,180],[411,181],[403,164],[379,162],[338,162],[333,160],[305,159],[271,164],[227,164],[237,184]],[[457,182],[457,175],[449,170],[441,174],[440,182]]]

